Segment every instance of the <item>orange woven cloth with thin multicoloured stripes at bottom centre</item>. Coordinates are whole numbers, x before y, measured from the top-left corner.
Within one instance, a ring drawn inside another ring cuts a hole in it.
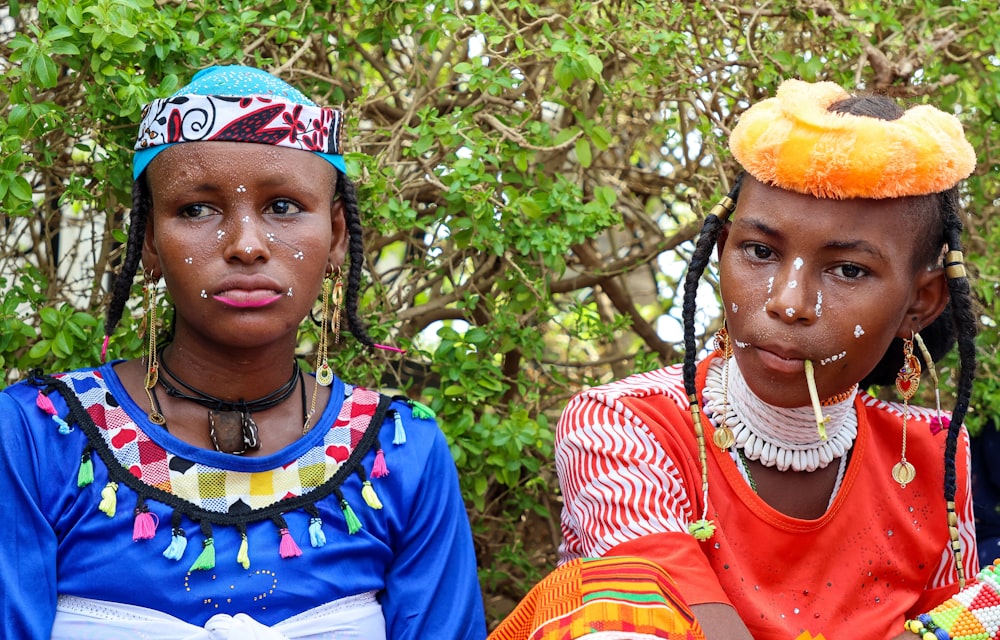
[[[539,582],[489,640],[703,640],[673,580],[641,558],[580,558]]]

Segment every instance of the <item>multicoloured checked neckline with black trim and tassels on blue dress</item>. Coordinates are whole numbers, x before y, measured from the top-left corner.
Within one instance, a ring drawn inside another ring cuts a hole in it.
[[[111,365],[107,365],[110,367]],[[309,514],[309,538],[314,547],[323,546],[326,537],[315,503],[333,494],[344,514],[348,533],[357,533],[361,521],[354,513],[341,485],[351,474],[358,475],[362,483],[361,496],[372,509],[382,504],[361,464],[365,455],[376,451],[375,464],[370,477],[388,475],[385,457],[379,441],[384,419],[392,414],[396,430],[393,444],[406,442],[402,418],[398,411],[390,410],[393,398],[362,387],[344,385],[344,401],[331,427],[315,439],[305,451],[293,449],[296,458],[286,464],[260,471],[236,471],[216,467],[206,459],[219,456],[216,452],[197,450],[199,455],[189,460],[172,453],[163,446],[161,432],[150,437],[148,427],[140,424],[118,404],[111,393],[114,379],[106,380],[105,370],[95,369],[47,376],[34,372],[31,384],[39,388],[37,405],[59,425],[59,433],[67,434],[78,426],[86,436],[86,445],[80,457],[77,484],[85,487],[94,480],[93,454],[97,454],[108,471],[108,482],[101,490],[97,508],[108,517],[117,512],[117,490],[123,484],[136,493],[133,540],[150,539],[156,534],[156,522],[149,513],[147,500],[155,500],[173,509],[171,542],[163,555],[179,560],[186,549],[187,540],[182,517],[197,523],[204,535],[203,550],[190,570],[211,569],[215,566],[213,525],[235,526],[243,542],[237,561],[249,566],[246,554],[247,525],[271,520],[280,534],[280,555],[283,558],[302,554],[289,534],[282,513],[301,509]],[[113,373],[111,375],[114,375]],[[65,401],[69,412],[65,419],[48,397],[57,392]],[[405,398],[399,398],[406,400]],[[128,403],[129,400],[122,400]],[[414,417],[433,418],[433,412],[410,403]],[[314,437],[315,438],[315,437]],[[302,442],[302,441],[300,441]],[[292,445],[295,447],[296,445]],[[286,448],[287,450],[287,448]],[[228,459],[228,456],[226,457]],[[234,458],[233,462],[252,466],[261,459]]]

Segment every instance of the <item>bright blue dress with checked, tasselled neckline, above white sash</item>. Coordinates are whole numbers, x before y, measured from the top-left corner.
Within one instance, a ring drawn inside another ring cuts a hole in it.
[[[432,419],[393,400],[374,424],[380,395],[335,379],[312,430],[244,458],[150,423],[112,365],[0,392],[0,637],[48,638],[64,594],[273,625],[371,591],[391,640],[485,637]]]

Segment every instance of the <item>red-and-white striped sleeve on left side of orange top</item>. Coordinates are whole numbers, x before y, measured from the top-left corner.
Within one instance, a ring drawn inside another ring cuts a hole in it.
[[[639,390],[637,385],[648,395],[650,384],[666,381],[650,378],[667,373],[672,372],[597,387],[574,397],[563,411],[555,445],[563,495],[561,562],[602,556],[649,534],[686,533],[695,519],[670,452],[621,402],[623,394]]]

